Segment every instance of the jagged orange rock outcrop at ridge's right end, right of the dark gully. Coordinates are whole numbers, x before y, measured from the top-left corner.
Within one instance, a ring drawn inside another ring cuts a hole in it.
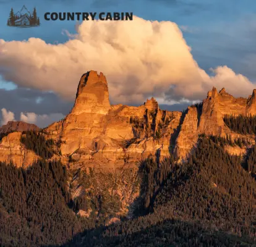
[[[176,157],[180,159],[189,156],[191,149],[196,146],[198,134],[220,135],[231,138],[245,138],[254,142],[255,136],[242,136],[232,132],[224,123],[224,115],[255,115],[256,114],[256,90],[248,99],[234,98],[226,93],[222,88],[219,93],[215,87],[208,91],[207,98],[202,104],[192,110],[189,107],[184,122],[181,126],[181,132],[176,141]],[[198,126],[198,127],[197,127]]]

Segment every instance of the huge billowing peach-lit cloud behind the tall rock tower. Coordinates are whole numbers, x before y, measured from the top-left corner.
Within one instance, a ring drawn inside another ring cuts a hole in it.
[[[247,97],[254,84],[228,67],[209,76],[198,67],[181,30],[173,22],[135,17],[130,22],[87,21],[64,44],[0,40],[0,73],[20,86],[74,98],[80,76],[105,73],[112,103],[143,103],[155,96],[197,100],[212,86]]]

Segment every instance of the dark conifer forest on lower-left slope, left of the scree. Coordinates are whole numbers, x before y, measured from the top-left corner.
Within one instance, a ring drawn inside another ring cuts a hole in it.
[[[60,162],[38,161],[27,170],[0,162],[0,245],[59,245],[95,227],[67,206],[67,179]]]

